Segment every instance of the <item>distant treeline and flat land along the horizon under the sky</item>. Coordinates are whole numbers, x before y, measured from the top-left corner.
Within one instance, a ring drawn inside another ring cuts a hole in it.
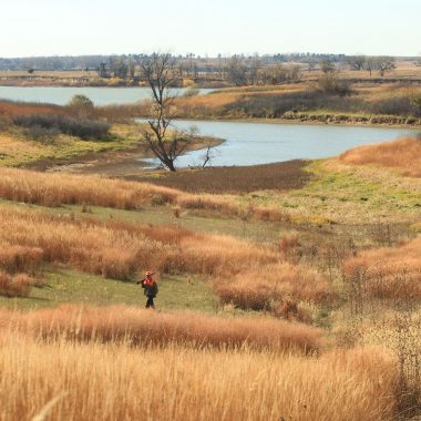
[[[147,82],[142,72],[144,54],[127,55],[80,55],[0,59],[0,71],[28,72],[28,78],[38,76],[40,71],[93,71],[96,78],[86,73],[86,81],[95,80],[102,85],[137,85]],[[234,54],[203,58],[188,53],[174,55],[172,68],[174,86],[246,86],[296,82],[302,72],[322,71],[329,89],[340,91],[336,79],[342,70],[366,71],[383,78],[396,69],[396,62],[403,58],[368,57],[346,54],[288,53],[273,55]],[[405,58],[421,65],[419,58]],[[357,75],[357,74],[356,74]],[[22,76],[20,76],[22,78]],[[27,78],[27,76],[23,76]],[[45,78],[45,76],[44,76]],[[84,75],[79,75],[83,79]],[[418,82],[417,82],[418,83]],[[335,86],[333,86],[335,85]]]

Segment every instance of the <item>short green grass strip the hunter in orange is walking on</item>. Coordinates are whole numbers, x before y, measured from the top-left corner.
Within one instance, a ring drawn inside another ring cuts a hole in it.
[[[143,289],[134,283],[89,275],[69,268],[49,268],[45,286],[34,287],[27,298],[0,297],[0,306],[24,310],[55,307],[62,304],[110,306],[124,304],[144,307]],[[163,276],[158,280],[160,309],[215,311],[218,299],[208,283],[194,276]]]

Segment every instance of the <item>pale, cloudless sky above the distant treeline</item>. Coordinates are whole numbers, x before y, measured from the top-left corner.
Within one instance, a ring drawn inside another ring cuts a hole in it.
[[[0,57],[421,54],[421,0],[14,0]]]

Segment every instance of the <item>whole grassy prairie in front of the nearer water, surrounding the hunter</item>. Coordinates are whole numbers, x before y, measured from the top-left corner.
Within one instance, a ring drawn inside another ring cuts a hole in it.
[[[418,137],[124,179],[2,133],[0,420],[420,417]]]

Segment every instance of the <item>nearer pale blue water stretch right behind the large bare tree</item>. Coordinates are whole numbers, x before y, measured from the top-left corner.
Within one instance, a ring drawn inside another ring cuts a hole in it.
[[[209,121],[176,121],[181,130],[192,126],[201,135],[226,140],[212,152],[213,166],[257,165],[298,158],[324,158],[355,146],[393,141],[413,133],[405,129],[356,127],[330,125],[238,123]],[[177,167],[203,163],[206,150],[179,156]],[[144,160],[157,166],[157,160]]]

